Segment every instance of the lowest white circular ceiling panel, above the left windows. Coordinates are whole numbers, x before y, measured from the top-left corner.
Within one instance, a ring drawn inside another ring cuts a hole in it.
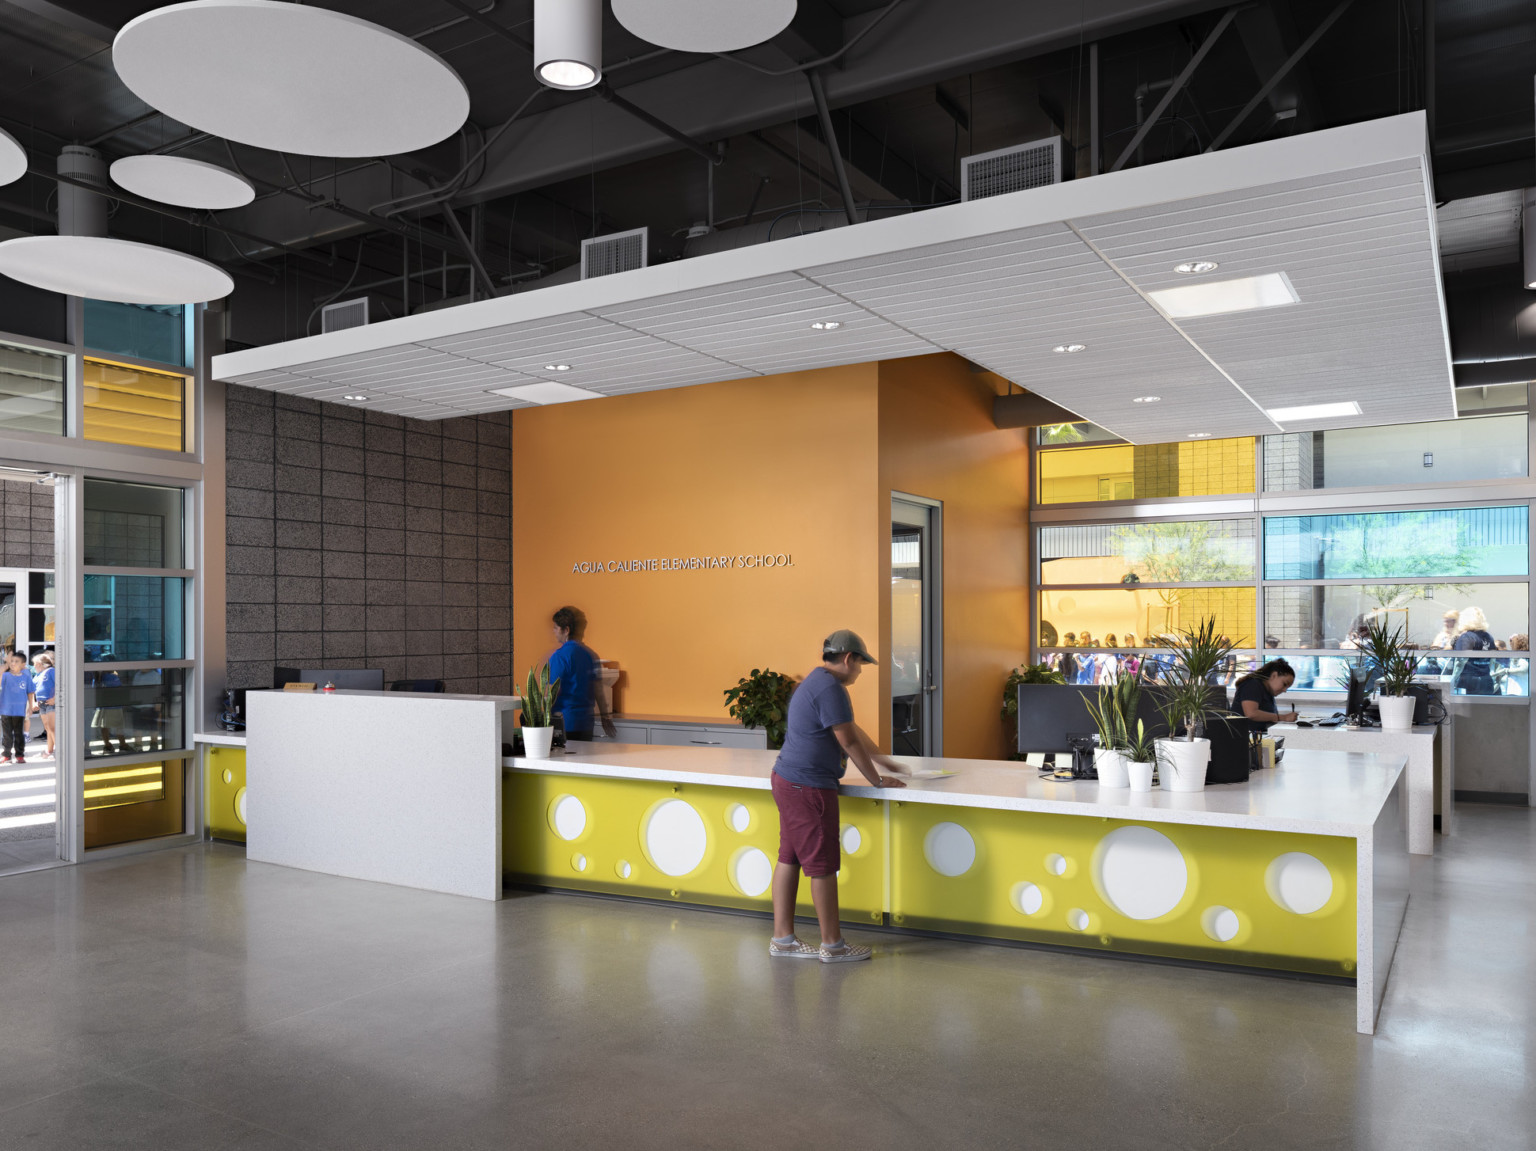
[[[198,304],[235,289],[229,272],[207,260],[97,235],[6,240],[0,274],[49,292],[120,304]]]

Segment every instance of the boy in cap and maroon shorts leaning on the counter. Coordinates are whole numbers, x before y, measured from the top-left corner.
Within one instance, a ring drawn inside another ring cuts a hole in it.
[[[906,768],[880,755],[874,741],[854,722],[848,685],[874,656],[863,639],[843,629],[822,641],[822,664],[794,695],[785,722],[783,748],[773,767],[773,799],[779,807],[779,862],[773,871],[773,927],[768,954],[845,964],[869,957],[869,948],[843,939],[837,907],[837,870],[842,867],[842,824],[837,782],[846,755],[874,787],[906,787],[886,771]],[[822,927],[822,945],[794,934],[794,904],[800,871],[811,881],[811,902]]]

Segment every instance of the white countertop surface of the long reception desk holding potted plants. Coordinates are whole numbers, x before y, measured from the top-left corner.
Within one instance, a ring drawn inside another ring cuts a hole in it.
[[[777,751],[728,747],[650,747],[642,744],[588,744],[590,753],[553,755],[548,759],[508,758],[515,771],[654,779],[668,784],[751,787],[766,790]],[[601,750],[596,750],[601,747]],[[1246,827],[1263,831],[1310,834],[1370,834],[1382,802],[1402,773],[1404,756],[1355,751],[1295,750],[1278,767],[1253,775],[1247,784],[1212,784],[1204,791],[1135,793],[1103,788],[1094,781],[1041,779],[1023,764],[997,759],[919,759],[897,756],[914,768],[954,771],[940,779],[914,779],[906,788],[869,787],[849,768],[842,793],[862,799],[912,804],[949,804],[1011,811],[1054,811],[1164,824]]]

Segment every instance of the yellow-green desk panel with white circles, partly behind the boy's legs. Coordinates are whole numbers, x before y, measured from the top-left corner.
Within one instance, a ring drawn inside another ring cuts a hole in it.
[[[845,922],[885,917],[885,804],[842,798]],[[541,887],[771,911],[773,793],[756,788],[510,771],[502,868]],[[802,914],[814,914],[800,881]]]

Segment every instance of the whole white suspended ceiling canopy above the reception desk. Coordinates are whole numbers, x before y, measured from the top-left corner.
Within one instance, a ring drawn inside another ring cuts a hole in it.
[[[232,352],[214,375],[439,420],[524,407],[504,392],[541,381],[613,396],[948,350],[1132,443],[1450,420],[1433,204],[1415,112]],[[1169,294],[1212,281],[1267,306],[1190,317]]]

